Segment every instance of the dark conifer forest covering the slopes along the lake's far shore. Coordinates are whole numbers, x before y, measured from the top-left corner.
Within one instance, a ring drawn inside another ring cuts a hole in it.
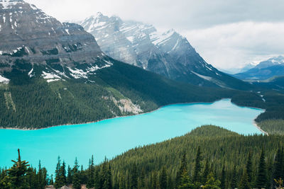
[[[284,119],[284,95],[264,91],[264,102],[255,91],[228,88],[206,88],[166,79],[129,64],[113,62],[98,69],[89,78],[71,79],[68,69],[58,63],[45,67],[28,62],[5,74],[8,85],[0,84],[0,127],[41,128],[53,125],[92,122],[135,112],[122,112],[121,99],[138,105],[141,112],[155,110],[171,103],[212,102],[231,98],[237,105],[266,109],[256,121]],[[99,64],[99,62],[97,62]],[[28,76],[33,67],[34,76]],[[87,69],[87,64],[78,64]],[[67,70],[69,78],[46,82],[43,71]],[[123,104],[122,104],[123,105]]]

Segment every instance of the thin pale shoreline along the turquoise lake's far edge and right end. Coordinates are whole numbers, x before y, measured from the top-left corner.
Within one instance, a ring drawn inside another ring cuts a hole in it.
[[[153,113],[154,111],[157,111],[157,110],[160,110],[161,108],[165,108],[169,105],[184,105],[184,104],[190,104],[190,105],[193,105],[193,104],[196,104],[196,103],[206,103],[206,104],[212,104],[212,103],[216,103],[217,101],[222,101],[222,100],[229,100],[231,101],[231,98],[221,98],[221,99],[218,99],[216,101],[212,101],[212,102],[193,102],[193,103],[171,103],[171,104],[168,104],[168,105],[163,105],[163,106],[160,106],[159,108],[155,109],[155,110],[151,110],[149,112],[145,112],[145,113],[138,113],[138,114],[135,114],[135,115],[145,115],[147,113]],[[232,102],[231,102],[232,103]],[[236,105],[235,103],[232,103],[234,105]],[[258,109],[258,110],[263,110],[261,108],[255,108],[255,107],[247,107],[247,106],[240,106],[240,105],[237,105],[241,108],[254,108],[254,109]],[[265,111],[265,110],[264,110]],[[20,130],[20,131],[31,131],[31,130],[45,130],[45,129],[49,129],[51,127],[62,127],[62,126],[69,126],[69,125],[85,125],[85,124],[90,124],[90,123],[96,123],[96,122],[101,122],[101,121],[104,121],[104,120],[111,120],[111,119],[115,119],[115,118],[126,118],[126,117],[131,117],[131,116],[135,116],[135,115],[123,115],[123,116],[116,116],[116,117],[113,117],[113,118],[106,118],[106,119],[102,119],[102,120],[97,120],[97,121],[91,121],[91,122],[82,122],[82,123],[75,123],[75,124],[72,124],[72,123],[67,123],[67,124],[63,124],[63,125],[53,125],[53,126],[48,126],[48,127],[43,127],[43,128],[18,128],[18,127],[0,127],[0,130]],[[256,125],[256,122],[253,121],[253,125],[255,127],[258,128],[258,130],[260,130],[261,132],[263,132],[263,134],[267,134],[266,132],[264,132],[263,130],[261,130],[261,127],[259,127],[258,125]]]

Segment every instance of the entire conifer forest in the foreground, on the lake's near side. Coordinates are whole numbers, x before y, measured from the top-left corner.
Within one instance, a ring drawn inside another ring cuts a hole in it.
[[[51,177],[41,166],[36,170],[21,163],[19,156],[12,168],[1,171],[0,188],[277,188],[284,178],[283,141],[281,136],[243,136],[206,126],[97,166],[92,156],[86,169],[77,159],[72,168],[58,159]]]

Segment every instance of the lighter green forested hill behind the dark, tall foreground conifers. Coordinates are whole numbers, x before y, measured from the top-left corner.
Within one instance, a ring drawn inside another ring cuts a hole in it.
[[[180,170],[180,161],[184,153],[186,154],[190,181],[194,183],[196,154],[200,147],[201,183],[205,184],[207,181],[207,177],[203,176],[202,178],[202,174],[207,173],[208,175],[212,171],[219,181],[224,180],[225,188],[233,188],[232,185],[238,186],[240,184],[241,177],[247,169],[249,154],[251,154],[251,173],[249,174],[251,175],[250,185],[253,188],[257,186],[258,164],[263,149],[266,158],[266,187],[269,188],[268,186],[273,185],[272,178],[275,177],[275,156],[278,149],[282,149],[283,142],[284,137],[280,136],[243,136],[219,127],[206,126],[197,128],[183,137],[127,151],[111,160],[110,166],[113,169],[114,181],[116,176],[119,178],[121,175],[126,175],[127,183],[127,174],[135,164],[139,176],[145,172],[148,188],[151,188],[153,175],[156,174],[159,178],[165,166],[168,184],[170,188],[173,188],[177,184],[175,183],[176,176]],[[284,177],[283,159],[281,162],[281,177]],[[223,169],[224,173],[222,173]],[[234,180],[237,183],[234,183]]]

